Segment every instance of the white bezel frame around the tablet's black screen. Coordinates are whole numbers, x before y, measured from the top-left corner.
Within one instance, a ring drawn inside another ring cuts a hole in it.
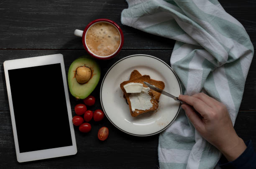
[[[70,126],[70,132],[72,137],[72,146],[20,153],[8,70],[18,69],[18,68],[28,68],[33,66],[43,66],[43,65],[49,65],[54,63],[61,64],[61,72],[62,72],[62,78],[64,83],[64,91],[66,96],[67,111],[68,111],[68,117],[69,117],[69,126]],[[10,106],[10,115],[11,115],[11,121],[13,126],[15,150],[16,150],[16,156],[17,156],[18,162],[33,161],[33,160],[39,160],[39,159],[49,159],[49,158],[54,158],[59,156],[68,156],[68,155],[76,154],[77,145],[76,145],[76,140],[74,135],[74,127],[72,124],[72,113],[71,113],[71,106],[69,102],[69,92],[68,92],[68,86],[67,86],[67,78],[66,78],[66,72],[64,67],[63,55],[56,54],[56,55],[38,56],[33,58],[15,59],[10,61],[5,61],[3,65],[4,65],[4,71],[5,71],[5,81],[6,81],[6,87],[7,87],[7,93],[8,93],[9,106]]]

